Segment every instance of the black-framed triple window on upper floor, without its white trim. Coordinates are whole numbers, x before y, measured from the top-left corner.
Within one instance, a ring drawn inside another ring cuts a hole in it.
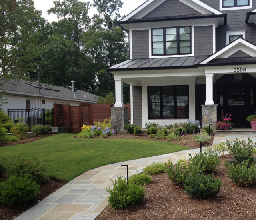
[[[191,54],[191,26],[152,29],[152,56]]]

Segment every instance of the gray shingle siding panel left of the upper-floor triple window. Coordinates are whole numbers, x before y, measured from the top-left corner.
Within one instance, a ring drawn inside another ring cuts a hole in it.
[[[132,31],[132,58],[148,58],[148,30]]]

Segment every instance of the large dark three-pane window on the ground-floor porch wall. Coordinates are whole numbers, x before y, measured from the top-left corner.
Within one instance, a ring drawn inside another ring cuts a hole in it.
[[[148,86],[148,119],[189,118],[188,86]]]

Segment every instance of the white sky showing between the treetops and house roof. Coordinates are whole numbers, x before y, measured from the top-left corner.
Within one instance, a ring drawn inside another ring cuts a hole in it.
[[[54,14],[48,14],[47,10],[54,7],[54,0],[34,0],[35,8],[42,11],[42,16],[48,20],[48,22],[58,21],[58,18]],[[81,2],[86,2],[88,0],[80,0]],[[89,0],[91,3],[93,0]],[[122,0],[124,2],[122,8],[120,9],[121,16],[127,15],[132,12],[135,8],[146,2],[146,0]],[[89,16],[96,14],[97,10],[95,8],[90,8]]]

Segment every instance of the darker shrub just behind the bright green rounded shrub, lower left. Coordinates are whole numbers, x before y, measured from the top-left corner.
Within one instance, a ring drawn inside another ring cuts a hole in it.
[[[40,163],[36,156],[32,160],[26,160],[18,156],[18,160],[8,164],[8,174],[10,176],[28,176],[39,184],[49,180],[46,165]]]

